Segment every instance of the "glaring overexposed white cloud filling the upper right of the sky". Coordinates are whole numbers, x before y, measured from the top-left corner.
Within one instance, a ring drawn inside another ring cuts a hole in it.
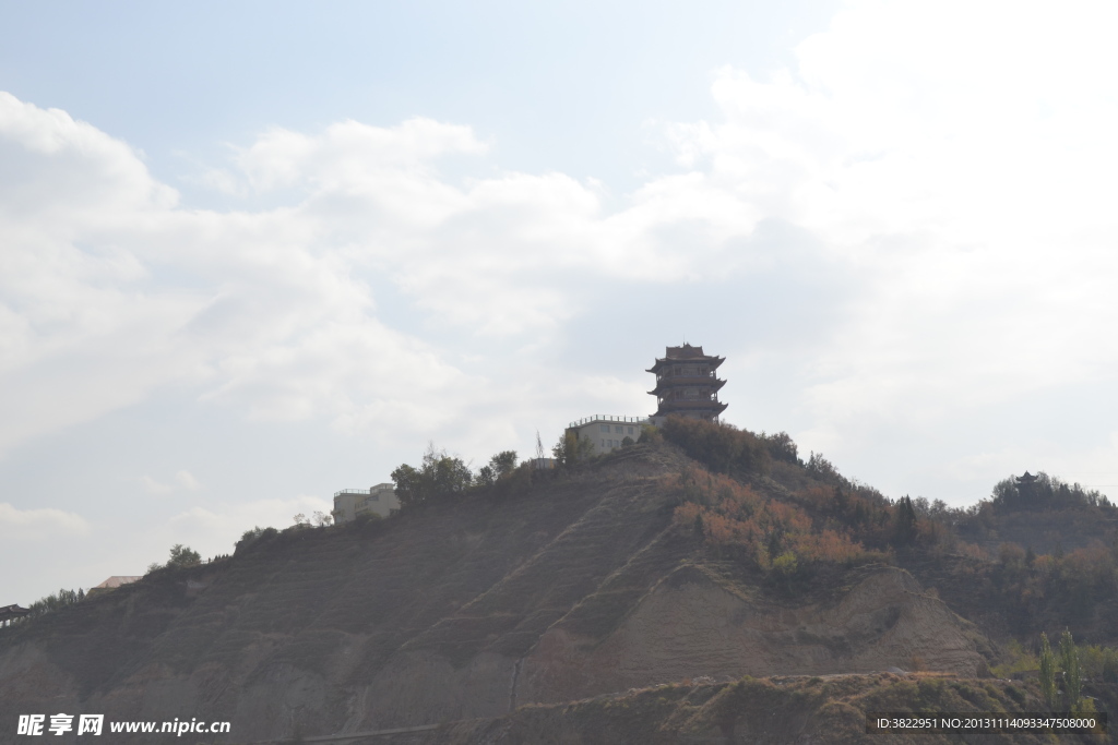
[[[805,391],[812,437],[861,447],[1112,375],[1114,13],[851,3],[797,70],[724,69],[723,118],[669,127],[704,182],[859,268]]]

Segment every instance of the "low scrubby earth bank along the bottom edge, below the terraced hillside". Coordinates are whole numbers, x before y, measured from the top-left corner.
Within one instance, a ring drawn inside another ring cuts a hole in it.
[[[1035,681],[956,679],[936,674],[843,675],[665,685],[456,723],[395,742],[434,745],[839,745],[850,743],[1103,743],[1105,735],[868,734],[871,711],[1044,710]],[[388,741],[386,741],[388,742]]]

